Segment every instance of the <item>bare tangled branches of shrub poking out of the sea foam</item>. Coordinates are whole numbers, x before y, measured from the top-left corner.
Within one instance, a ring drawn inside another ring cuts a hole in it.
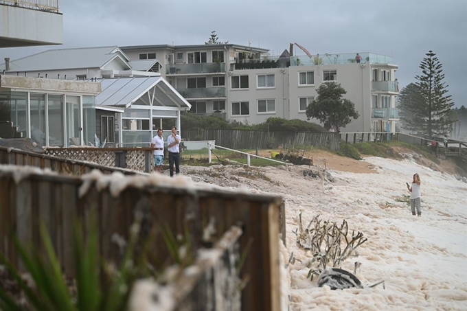
[[[307,278],[311,280],[315,275],[318,276],[328,264],[332,267],[340,266],[341,262],[354,255],[358,246],[367,241],[361,232],[355,234],[352,231],[350,238],[348,223],[345,220],[339,226],[336,222],[329,220],[321,223],[319,216],[315,216],[304,229],[301,213],[299,214],[299,228],[293,233],[297,236],[297,245],[312,255],[312,259],[307,264],[310,268]]]

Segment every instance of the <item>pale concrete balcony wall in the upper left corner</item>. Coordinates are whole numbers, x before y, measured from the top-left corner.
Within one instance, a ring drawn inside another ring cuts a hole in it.
[[[0,47],[63,44],[63,16],[0,4]]]

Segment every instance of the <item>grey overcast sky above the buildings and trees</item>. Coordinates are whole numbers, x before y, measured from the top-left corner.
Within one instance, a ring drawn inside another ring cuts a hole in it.
[[[216,30],[273,55],[296,42],[311,54],[393,56],[402,88],[433,50],[448,94],[467,106],[467,0],[62,0],[60,12],[64,45],[0,49],[0,62],[68,47],[204,44]]]

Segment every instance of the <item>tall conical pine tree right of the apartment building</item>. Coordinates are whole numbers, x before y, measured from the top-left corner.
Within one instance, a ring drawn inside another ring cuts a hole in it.
[[[451,95],[446,95],[448,85],[442,82],[444,74],[440,60],[433,51],[425,55],[419,66],[422,74],[415,76],[417,87],[405,90],[405,95],[409,96],[399,96],[399,108],[405,117],[405,128],[418,130],[429,137],[445,135],[451,132],[455,122],[451,111],[454,103]]]

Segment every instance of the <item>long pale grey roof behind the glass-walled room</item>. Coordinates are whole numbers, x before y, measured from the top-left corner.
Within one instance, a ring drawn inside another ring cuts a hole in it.
[[[49,49],[16,60],[10,60],[10,70],[8,72],[102,68],[115,58],[120,58],[124,63],[128,62],[126,55],[116,46]],[[2,71],[5,69],[5,63],[0,64],[0,69]]]

